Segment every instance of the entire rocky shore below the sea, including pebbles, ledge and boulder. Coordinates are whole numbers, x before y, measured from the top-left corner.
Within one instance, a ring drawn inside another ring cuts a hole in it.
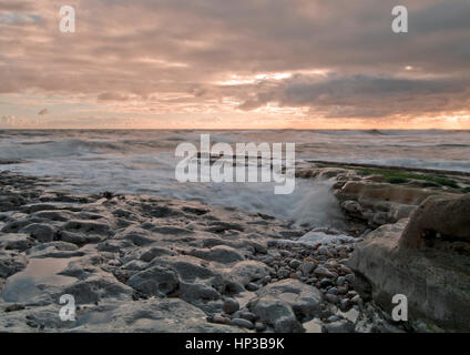
[[[0,331],[367,333],[470,324],[468,195],[337,166],[298,175],[335,179],[344,230],[200,202],[78,195],[52,189],[51,179],[1,172]],[[440,209],[436,196],[461,206],[445,224],[452,235],[419,222],[430,203]],[[403,276],[403,267],[427,273]],[[410,322],[391,321],[394,293],[409,295]],[[64,294],[75,300],[75,321],[59,316]]]

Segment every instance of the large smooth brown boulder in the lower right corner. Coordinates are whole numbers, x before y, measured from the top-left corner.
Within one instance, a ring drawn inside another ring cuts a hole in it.
[[[388,312],[406,295],[411,325],[470,331],[469,211],[469,195],[433,196],[369,233],[348,262],[356,290]]]

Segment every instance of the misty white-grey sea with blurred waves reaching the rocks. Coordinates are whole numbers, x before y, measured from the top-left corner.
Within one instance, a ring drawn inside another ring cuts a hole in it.
[[[318,160],[470,172],[470,131],[440,130],[0,130],[0,159],[25,161],[0,171],[61,178],[55,187],[76,193],[157,195],[331,224],[331,181],[296,179],[286,195],[274,193],[274,182],[178,182],[176,146],[200,146],[201,134],[213,144],[295,143],[298,166]]]

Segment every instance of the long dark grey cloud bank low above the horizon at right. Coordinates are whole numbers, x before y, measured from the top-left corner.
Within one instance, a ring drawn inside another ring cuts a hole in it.
[[[377,118],[391,114],[463,110],[470,83],[457,78],[409,79],[372,75],[326,78],[295,75],[243,102],[254,110],[270,102],[280,106],[308,106],[326,116]]]

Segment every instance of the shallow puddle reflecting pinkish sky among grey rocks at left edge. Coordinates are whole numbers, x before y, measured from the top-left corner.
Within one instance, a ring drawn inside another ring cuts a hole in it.
[[[58,275],[72,258],[31,258],[27,268],[7,280],[0,297],[6,302],[28,302],[43,291],[39,285],[62,286],[76,281],[74,277]]]

